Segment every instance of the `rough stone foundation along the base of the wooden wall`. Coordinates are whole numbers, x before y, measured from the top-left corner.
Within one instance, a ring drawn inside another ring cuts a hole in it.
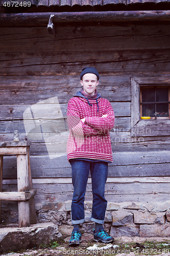
[[[81,230],[85,233],[92,233],[92,228],[94,228],[94,223],[90,221],[91,209],[92,202],[85,202],[85,223],[81,225]],[[169,209],[170,201],[153,203],[108,202],[105,229],[113,237],[169,237]],[[63,236],[68,236],[71,233],[71,201],[36,205],[36,213],[37,223],[53,222],[62,230]],[[7,212],[6,216],[8,216]],[[11,210],[8,219],[10,222],[12,220],[16,222],[16,212],[14,214],[14,211]]]

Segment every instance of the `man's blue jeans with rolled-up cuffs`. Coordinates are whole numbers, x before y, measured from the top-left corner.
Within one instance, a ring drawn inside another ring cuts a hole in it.
[[[104,161],[90,162],[86,160],[70,160],[72,168],[72,184],[74,194],[71,203],[71,222],[80,224],[85,221],[84,197],[89,170],[92,182],[92,214],[90,220],[103,224],[107,207],[105,199],[105,183],[108,175],[108,163]]]

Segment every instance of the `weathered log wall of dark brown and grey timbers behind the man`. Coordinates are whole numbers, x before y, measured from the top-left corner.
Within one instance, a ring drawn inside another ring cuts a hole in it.
[[[48,34],[46,27],[0,28],[0,36],[1,141],[12,140],[15,129],[20,139],[25,139],[23,112],[42,100],[57,96],[66,118],[67,102],[80,89],[81,69],[93,66],[101,75],[98,91],[112,103],[116,116],[110,133],[114,160],[109,164],[106,198],[111,202],[167,200],[170,138],[161,134],[132,138],[130,128],[131,77],[169,74],[170,25],[77,24],[58,27],[56,35]],[[41,115],[43,108],[37,120],[44,123]],[[60,121],[57,125],[61,128]],[[55,125],[52,120],[51,133],[58,133]],[[68,133],[64,132],[55,145],[58,152],[66,146]],[[66,155],[50,159],[46,146],[51,141],[45,144],[38,134],[31,141],[36,206],[70,200],[71,169]],[[3,189],[16,189],[13,156],[4,157]],[[86,200],[91,200],[90,183]]]

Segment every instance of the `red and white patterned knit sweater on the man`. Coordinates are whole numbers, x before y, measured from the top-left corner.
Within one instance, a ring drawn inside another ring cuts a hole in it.
[[[70,130],[67,141],[67,160],[75,158],[112,162],[109,130],[114,126],[114,111],[107,99],[96,100],[73,97],[67,106],[67,122]],[[107,114],[107,117],[102,117]],[[85,122],[81,119],[85,117]]]

